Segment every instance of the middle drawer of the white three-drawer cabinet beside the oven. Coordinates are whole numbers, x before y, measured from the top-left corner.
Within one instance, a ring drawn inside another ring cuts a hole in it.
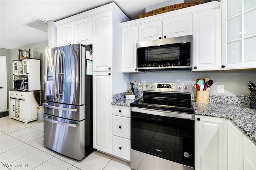
[[[130,139],[130,118],[113,115],[112,134]]]

